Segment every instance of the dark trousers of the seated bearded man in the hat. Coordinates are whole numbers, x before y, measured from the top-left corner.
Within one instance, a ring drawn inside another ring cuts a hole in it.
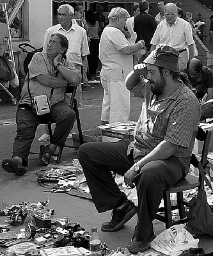
[[[129,140],[116,143],[94,142],[81,145],[78,158],[83,167],[93,202],[98,212],[114,209],[127,200],[114,181],[111,171],[124,175],[134,164],[127,156]],[[134,182],[138,194],[138,223],[134,235],[149,239],[153,235],[152,221],[166,188],[182,179],[184,168],[177,157],[152,161],[141,169]]]

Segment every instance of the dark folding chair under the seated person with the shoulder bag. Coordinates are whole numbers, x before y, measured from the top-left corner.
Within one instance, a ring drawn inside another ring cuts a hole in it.
[[[70,86],[69,87],[69,93],[72,92],[72,96],[71,96],[71,99],[70,99],[70,108],[74,109],[74,111],[75,111],[77,130],[79,132],[79,141],[80,141],[80,144],[82,145],[84,143],[84,141],[83,141],[83,134],[82,134],[82,129],[81,129],[81,120],[80,120],[80,116],[79,116],[79,109],[77,107],[77,100],[75,99],[76,90],[77,90],[77,86]],[[50,136],[50,138],[52,138],[52,127],[51,127],[52,123],[47,120],[47,122],[42,122],[41,124],[47,124],[48,129],[49,129],[49,136]],[[65,145],[64,147],[76,148],[76,147],[70,146],[70,145]],[[59,147],[58,154],[53,155],[53,156],[57,156],[56,163],[60,163],[61,155],[62,155],[64,147]],[[29,152],[29,154],[40,154],[40,153]]]

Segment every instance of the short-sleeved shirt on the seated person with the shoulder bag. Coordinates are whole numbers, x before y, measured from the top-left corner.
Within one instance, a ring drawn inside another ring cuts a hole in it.
[[[81,77],[81,74],[77,68],[74,67],[74,65],[63,58],[61,58],[61,63],[63,66],[69,68],[70,70],[74,70],[79,74],[79,78]],[[54,65],[52,63],[52,60],[47,57],[47,54],[45,52],[37,52],[34,54],[33,59],[31,60],[31,63],[29,63],[29,90],[31,92],[31,97],[38,96],[38,95],[44,95],[46,94],[47,97],[51,96],[51,90],[52,88],[49,86],[44,86],[38,82],[36,79],[37,76],[40,76],[42,74],[50,74],[51,76],[56,76],[57,70],[54,68]],[[58,72],[57,77],[60,77],[61,74]],[[53,89],[53,93],[51,96],[51,106],[64,100],[66,92],[66,87],[57,87]],[[26,79],[24,81],[24,86],[22,89],[22,92],[20,93],[20,101],[19,104],[28,104],[31,106],[31,99],[29,97],[28,93],[28,80]]]

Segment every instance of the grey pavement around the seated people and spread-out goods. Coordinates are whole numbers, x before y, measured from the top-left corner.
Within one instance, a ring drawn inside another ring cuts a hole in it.
[[[2,94],[0,94],[1,98]],[[5,96],[5,95],[4,95]],[[83,90],[82,106],[79,108],[81,118],[81,126],[83,131],[93,129],[101,124],[100,112],[102,105],[103,89],[100,84],[91,84]],[[5,97],[4,97],[5,98]],[[0,161],[5,157],[12,156],[13,140],[16,134],[15,111],[17,106],[12,106],[11,102],[0,103]],[[130,96],[131,110],[130,120],[138,120],[141,111],[141,99]],[[36,138],[33,141],[32,150],[38,152],[41,143],[38,138],[42,135],[44,126],[39,125],[36,132]],[[73,131],[77,131],[75,126]],[[68,144],[72,144],[72,140],[67,140]],[[77,152],[73,148],[64,148],[61,161],[72,160],[77,157]],[[52,159],[52,164],[56,162]],[[98,214],[93,202],[88,199],[71,196],[64,193],[46,192],[45,188],[40,186],[36,180],[36,172],[40,170],[40,162],[38,155],[29,155],[29,166],[26,175],[17,177],[13,173],[6,173],[0,167],[0,209],[6,205],[19,204],[19,202],[40,202],[47,199],[50,200],[49,209],[54,208],[55,213],[52,218],[67,217],[72,222],[78,222],[87,231],[91,231],[91,227],[97,227],[100,240],[111,250],[118,247],[125,247],[132,238],[134,226],[136,225],[136,216],[134,216],[125,226],[118,232],[102,232],[100,226],[103,222],[111,220],[111,212]],[[6,217],[0,217],[0,224],[4,223]],[[19,227],[10,226],[11,230],[19,233]],[[164,223],[154,220],[155,235],[164,231]],[[213,243],[211,236],[200,236],[199,247],[203,248],[206,253],[213,252]],[[0,252],[5,252],[0,248]]]

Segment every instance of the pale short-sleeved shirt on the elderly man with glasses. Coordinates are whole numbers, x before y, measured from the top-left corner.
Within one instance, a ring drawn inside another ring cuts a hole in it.
[[[152,45],[167,44],[178,51],[186,49],[194,44],[191,25],[186,20],[177,17],[172,26],[163,20],[155,30],[150,42]]]

